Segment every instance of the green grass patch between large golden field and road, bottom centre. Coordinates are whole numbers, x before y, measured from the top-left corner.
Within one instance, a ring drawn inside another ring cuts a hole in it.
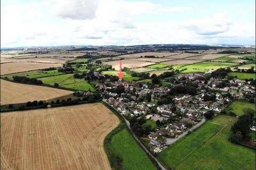
[[[111,138],[111,151],[122,159],[122,169],[156,169],[145,151],[133,139],[132,135],[122,129]]]

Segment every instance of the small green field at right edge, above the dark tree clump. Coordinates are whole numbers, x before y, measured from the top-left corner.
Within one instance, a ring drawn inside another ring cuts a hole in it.
[[[245,108],[252,108],[255,110],[255,105],[245,100],[233,101],[226,109],[227,113],[234,112],[237,116],[244,114]]]

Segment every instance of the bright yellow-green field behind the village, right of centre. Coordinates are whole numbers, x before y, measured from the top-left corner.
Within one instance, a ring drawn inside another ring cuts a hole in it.
[[[235,63],[221,63],[221,62],[200,62],[195,64],[190,64],[182,67],[182,69],[187,69],[181,73],[196,73],[196,72],[208,72],[210,70],[217,70],[220,67],[233,66]]]

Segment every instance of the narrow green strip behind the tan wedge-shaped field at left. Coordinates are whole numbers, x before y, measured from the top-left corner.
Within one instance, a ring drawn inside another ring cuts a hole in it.
[[[49,76],[61,75],[61,74],[63,73],[58,72],[58,70],[50,70],[50,71],[36,70],[36,71],[27,71],[22,73],[9,74],[9,75],[5,75],[4,77],[12,79],[13,76],[25,76],[30,79],[33,79],[33,78],[37,79],[37,78],[43,78],[43,77],[49,77]]]

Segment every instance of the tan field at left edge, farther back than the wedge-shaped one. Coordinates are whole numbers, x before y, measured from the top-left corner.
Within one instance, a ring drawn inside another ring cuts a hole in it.
[[[1,64],[1,75],[60,66],[62,66],[62,64],[29,62],[5,63]]]

